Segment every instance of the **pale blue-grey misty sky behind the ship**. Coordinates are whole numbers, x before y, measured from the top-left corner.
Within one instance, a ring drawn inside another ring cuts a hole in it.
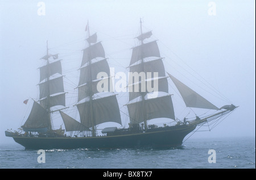
[[[45,15],[38,2],[46,5]],[[209,2],[216,5],[216,14],[210,14]],[[13,141],[5,137],[6,129],[22,125],[23,101],[38,97],[37,68],[43,65],[39,59],[46,55],[47,40],[49,52],[63,59],[64,72],[77,73],[89,20],[90,33],[97,32],[110,67],[123,71],[130,48],[137,45],[140,18],[143,31],[152,30],[158,40],[168,73],[217,107],[240,106],[213,131],[195,137],[255,136],[255,1],[0,0],[1,142]],[[229,101],[204,93],[202,78]]]

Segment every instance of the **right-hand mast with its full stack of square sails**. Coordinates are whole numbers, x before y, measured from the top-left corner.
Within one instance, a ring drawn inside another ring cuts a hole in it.
[[[156,40],[144,43],[145,39],[151,37],[152,32],[142,32],[142,20],[140,20],[141,34],[136,37],[140,44],[132,48],[129,76],[129,103],[127,108],[130,116],[130,124],[143,123],[144,130],[147,130],[147,120],[156,118],[175,119],[174,107],[171,95],[168,94],[168,82],[164,70],[162,57]],[[155,77],[155,73],[157,76]],[[154,74],[154,77],[152,75]],[[150,77],[148,77],[150,75]],[[155,84],[156,80],[156,84]],[[153,85],[154,83],[154,85]],[[149,91],[148,88],[158,86],[156,91]],[[136,90],[136,87],[137,90]],[[152,98],[152,93],[156,97]],[[158,95],[162,93],[162,95]]]

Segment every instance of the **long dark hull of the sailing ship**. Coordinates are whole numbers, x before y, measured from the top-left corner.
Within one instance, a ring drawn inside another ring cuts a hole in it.
[[[126,132],[112,136],[96,137],[24,137],[13,136],[16,143],[26,149],[76,149],[76,148],[176,148],[196,125],[177,125],[148,129],[147,132]]]

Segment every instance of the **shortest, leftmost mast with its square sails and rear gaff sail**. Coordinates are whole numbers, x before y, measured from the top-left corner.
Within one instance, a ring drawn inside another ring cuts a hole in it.
[[[39,82],[39,102],[34,101],[30,115],[22,128],[26,132],[49,132],[52,134],[51,107],[65,106],[65,92],[60,60],[50,62],[50,58],[56,60],[58,55],[48,52],[41,59],[46,60],[46,65],[41,66]]]

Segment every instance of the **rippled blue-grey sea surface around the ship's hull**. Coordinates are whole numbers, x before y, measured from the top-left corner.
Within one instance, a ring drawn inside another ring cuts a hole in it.
[[[188,139],[177,149],[47,149],[45,163],[40,155],[0,144],[0,168],[255,169],[255,137]]]

